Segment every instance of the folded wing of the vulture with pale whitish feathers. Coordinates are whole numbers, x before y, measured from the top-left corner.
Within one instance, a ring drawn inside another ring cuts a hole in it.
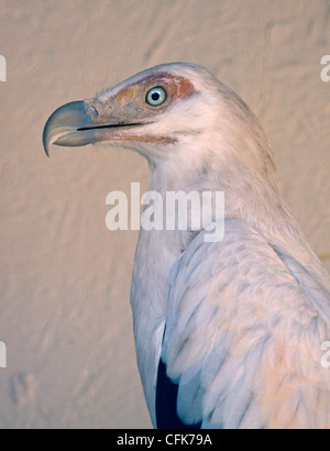
[[[162,360],[177,413],[205,428],[330,428],[329,294],[248,224],[200,233],[174,266]],[[327,304],[329,302],[329,304]]]

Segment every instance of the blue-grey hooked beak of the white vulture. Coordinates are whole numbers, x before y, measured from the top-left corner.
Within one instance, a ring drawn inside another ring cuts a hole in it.
[[[58,108],[47,120],[44,133],[44,150],[50,156],[51,145],[82,146],[97,141],[123,139],[123,129],[143,123],[123,123],[119,118],[102,122],[92,100],[75,101]]]

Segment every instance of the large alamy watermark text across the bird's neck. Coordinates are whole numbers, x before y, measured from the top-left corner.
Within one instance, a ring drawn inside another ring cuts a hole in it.
[[[224,237],[223,191],[147,191],[141,196],[140,184],[132,183],[130,201],[124,193],[111,191],[106,205],[111,206],[106,217],[110,231],[206,230],[206,242],[219,242]]]

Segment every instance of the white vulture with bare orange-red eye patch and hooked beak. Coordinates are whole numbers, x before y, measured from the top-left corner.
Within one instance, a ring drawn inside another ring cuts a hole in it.
[[[204,67],[163,64],[44,129],[47,155],[97,142],[144,156],[163,197],[224,193],[221,240],[208,240],[213,212],[199,230],[140,231],[131,306],[154,428],[330,428],[330,278],[245,102]]]

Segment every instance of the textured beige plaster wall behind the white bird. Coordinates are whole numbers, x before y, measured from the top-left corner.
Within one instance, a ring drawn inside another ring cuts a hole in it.
[[[283,195],[330,270],[327,0],[0,0],[0,428],[150,427],[129,304],[136,232],[106,196],[147,188],[138,155],[58,148],[58,106],[148,66],[207,66],[261,118]],[[328,260],[327,260],[328,257]]]

